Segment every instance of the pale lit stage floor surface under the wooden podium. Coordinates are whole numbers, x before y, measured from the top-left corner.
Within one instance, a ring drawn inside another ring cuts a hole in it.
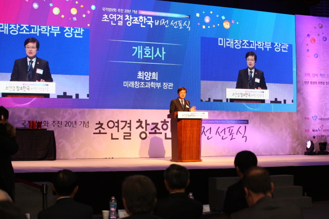
[[[15,173],[57,172],[70,169],[74,172],[146,171],[165,170],[171,157],[165,158],[113,158],[113,159],[58,159],[44,161],[12,161]],[[201,157],[202,162],[176,163],[188,169],[234,168],[234,156]],[[329,155],[267,155],[257,156],[262,167],[329,165]]]

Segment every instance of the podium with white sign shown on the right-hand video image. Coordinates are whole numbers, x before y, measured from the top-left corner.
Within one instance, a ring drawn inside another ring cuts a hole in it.
[[[235,103],[265,103],[270,99],[269,90],[226,89],[226,99]]]

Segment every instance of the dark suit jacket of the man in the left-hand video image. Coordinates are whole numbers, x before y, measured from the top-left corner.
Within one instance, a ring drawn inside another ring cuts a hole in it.
[[[43,70],[43,73],[36,73],[36,69]],[[11,81],[40,81],[41,79],[44,79],[46,82],[53,82],[48,61],[36,57],[32,79],[29,80],[27,77],[27,58],[24,57],[22,59],[15,60],[14,68],[10,78]]]

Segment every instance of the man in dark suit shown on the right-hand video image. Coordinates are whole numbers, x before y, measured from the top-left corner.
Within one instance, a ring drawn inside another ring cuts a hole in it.
[[[235,89],[267,90],[264,72],[255,68],[257,55],[250,51],[245,54],[248,68],[239,71]]]

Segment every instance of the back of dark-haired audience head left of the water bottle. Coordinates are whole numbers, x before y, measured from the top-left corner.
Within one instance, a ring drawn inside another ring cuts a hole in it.
[[[53,188],[58,196],[72,196],[73,198],[78,189],[77,181],[78,179],[74,172],[63,169],[55,173]]]

